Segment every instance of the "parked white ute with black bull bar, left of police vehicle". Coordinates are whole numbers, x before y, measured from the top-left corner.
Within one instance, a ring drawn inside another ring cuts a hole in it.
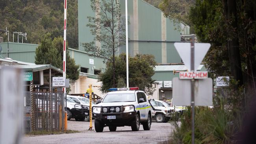
[[[75,118],[76,121],[90,121],[90,114],[89,114],[89,99],[82,97],[82,96],[70,96],[67,97],[71,98],[74,102],[76,102],[75,107],[71,109],[72,117]],[[92,105],[95,103],[92,101]],[[73,114],[75,116],[73,116]]]

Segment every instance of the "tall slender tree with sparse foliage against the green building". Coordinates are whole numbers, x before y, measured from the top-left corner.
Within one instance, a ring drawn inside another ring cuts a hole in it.
[[[91,28],[91,34],[95,36],[94,41],[101,42],[101,46],[96,45],[94,41],[82,45],[92,56],[104,57],[108,63],[112,63],[112,86],[116,87],[115,53],[125,40],[125,23],[121,17],[119,0],[91,0],[91,8],[96,17],[87,17],[89,24],[86,26]]]

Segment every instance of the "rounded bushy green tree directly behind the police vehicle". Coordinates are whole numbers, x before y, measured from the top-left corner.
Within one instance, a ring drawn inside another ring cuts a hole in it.
[[[115,81],[118,87],[126,87],[126,54],[121,54],[116,59]],[[129,86],[139,87],[147,94],[152,94],[152,76],[154,75],[154,67],[157,65],[153,55],[137,54],[135,57],[129,57]],[[102,81],[101,90],[107,92],[113,85],[113,63],[106,63],[106,70],[99,75],[99,81]]]

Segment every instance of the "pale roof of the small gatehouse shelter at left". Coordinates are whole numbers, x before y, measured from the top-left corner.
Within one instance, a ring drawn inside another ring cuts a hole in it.
[[[2,68],[2,67],[21,68],[25,71],[32,71],[32,72],[52,68],[53,70],[56,70],[59,73],[63,73],[63,70],[61,70],[60,68],[56,68],[55,66],[52,66],[52,65],[9,65],[9,66],[0,66],[0,68]]]

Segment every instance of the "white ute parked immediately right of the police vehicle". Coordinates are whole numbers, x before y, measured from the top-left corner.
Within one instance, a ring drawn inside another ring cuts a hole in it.
[[[158,107],[154,99],[148,100],[152,106],[152,118],[156,122],[168,122],[171,119],[171,110],[166,107]]]

